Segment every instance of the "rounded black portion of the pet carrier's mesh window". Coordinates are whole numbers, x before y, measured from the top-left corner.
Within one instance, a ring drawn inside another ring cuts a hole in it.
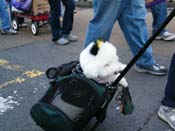
[[[95,98],[96,91],[85,80],[68,78],[60,82],[61,98],[80,108],[87,107]]]

